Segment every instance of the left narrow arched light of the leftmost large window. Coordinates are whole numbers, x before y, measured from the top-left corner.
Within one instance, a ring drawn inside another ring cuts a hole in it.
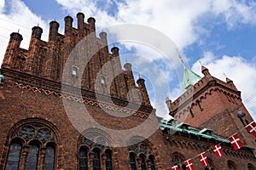
[[[20,143],[13,143],[9,146],[9,154],[7,158],[7,163],[5,169],[13,169],[16,170],[19,168],[20,162],[20,152],[21,152],[21,144]]]

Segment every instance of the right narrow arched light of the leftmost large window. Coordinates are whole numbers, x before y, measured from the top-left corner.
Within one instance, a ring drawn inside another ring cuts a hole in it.
[[[55,146],[48,145],[44,157],[44,170],[55,169]]]

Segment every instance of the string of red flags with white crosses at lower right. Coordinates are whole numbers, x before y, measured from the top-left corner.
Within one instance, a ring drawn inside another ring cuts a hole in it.
[[[254,138],[256,138],[256,122],[253,121],[253,122],[249,123],[246,127],[241,128],[241,130],[244,128],[246,128],[247,132],[252,133]],[[239,132],[241,132],[241,130]],[[234,150],[239,150],[244,147],[244,145],[242,144],[241,139],[239,139],[237,133],[230,136],[229,140],[230,140],[230,143],[232,144]],[[216,145],[212,146],[211,149],[209,149],[209,150],[213,150],[213,152],[217,158],[224,155],[224,150],[222,149],[220,144],[221,143],[216,144]],[[199,154],[195,157],[189,158],[187,161],[184,161],[183,163],[186,166],[186,170],[195,170],[192,160],[195,159],[196,157],[199,158],[199,160],[201,161],[202,167],[207,167],[209,165],[209,162],[207,160],[206,152],[209,150],[206,150],[206,151],[202,152],[201,154]],[[167,170],[167,168],[163,168],[163,170]],[[174,165],[172,167],[172,170],[179,170],[179,167],[177,165]]]

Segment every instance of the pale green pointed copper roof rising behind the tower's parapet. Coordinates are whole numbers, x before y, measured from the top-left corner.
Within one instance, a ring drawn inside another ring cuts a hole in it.
[[[194,71],[190,71],[189,69],[185,68],[183,72],[182,94],[200,80],[201,77],[198,76]]]

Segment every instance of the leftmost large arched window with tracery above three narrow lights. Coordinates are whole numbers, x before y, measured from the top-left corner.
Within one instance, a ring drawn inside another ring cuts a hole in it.
[[[9,134],[7,161],[3,164],[5,170],[20,169],[20,166],[25,166],[26,170],[38,167],[44,167],[44,170],[55,169],[55,144],[58,143],[56,135],[49,127],[51,125],[40,121],[42,120],[24,120],[21,125],[17,123],[12,129],[13,133]],[[0,168],[2,169],[1,166]]]

